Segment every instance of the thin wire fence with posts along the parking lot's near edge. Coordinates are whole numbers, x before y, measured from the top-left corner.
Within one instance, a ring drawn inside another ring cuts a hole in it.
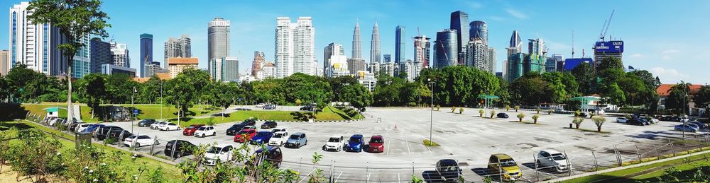
[[[50,124],[43,117],[35,114],[28,114],[28,119],[45,126]],[[57,127],[57,124],[50,127],[58,130],[62,129]],[[140,136],[141,134],[135,135]],[[168,141],[173,141],[173,139],[164,139],[154,135],[150,137],[153,139],[153,143],[140,144],[141,146],[138,146],[135,143],[136,141],[124,144],[124,136],[114,137],[115,141],[110,146],[133,153],[150,155],[153,158],[162,159],[172,164],[180,163],[185,158],[191,158],[191,156],[172,158],[174,155],[165,155],[166,145]],[[98,143],[107,142],[106,140],[99,141],[95,137],[93,141]],[[617,143],[599,148],[590,148],[586,151],[577,150],[572,154],[561,151],[564,154],[564,163],[557,165],[543,165],[540,162],[546,158],[539,159],[537,158],[537,152],[531,152],[530,155],[525,155],[525,157],[513,157],[521,174],[515,181],[543,182],[586,172],[596,172],[613,167],[671,158],[702,150],[710,150],[710,134],[685,134],[683,138],[679,136],[659,136],[656,140],[645,143]],[[172,151],[175,152],[174,149]],[[453,182],[486,182],[486,179],[492,182],[508,182],[510,173],[513,173],[503,171],[506,168],[501,168],[497,163],[479,162],[469,164],[464,163],[466,160],[457,160],[457,162],[459,162],[460,173],[443,176],[437,171],[437,167],[434,165],[435,162],[398,163],[398,165],[383,162],[364,162],[353,165],[351,163],[339,163],[334,160],[314,165],[310,159],[300,159],[298,161],[283,160],[281,168],[299,172],[299,182],[307,182],[310,175],[318,172],[317,170],[322,170],[323,177],[329,182],[410,182],[413,176],[424,179],[426,182],[449,182],[451,180],[447,178],[452,177],[454,179]],[[560,165],[566,167],[566,170],[559,171],[561,169],[558,169]]]

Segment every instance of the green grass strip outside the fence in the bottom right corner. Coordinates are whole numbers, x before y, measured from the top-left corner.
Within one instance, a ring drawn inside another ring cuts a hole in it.
[[[692,164],[688,164],[687,162],[691,162]],[[676,167],[683,172],[683,176],[679,178],[684,178],[687,177],[686,175],[692,175],[692,173],[696,170],[696,166],[699,165],[710,165],[710,153],[703,153],[684,159],[653,163],[651,165],[633,167],[625,170],[607,172],[599,175],[579,177],[577,179],[570,179],[564,182],[657,182],[658,180],[656,177],[663,175],[666,168]]]

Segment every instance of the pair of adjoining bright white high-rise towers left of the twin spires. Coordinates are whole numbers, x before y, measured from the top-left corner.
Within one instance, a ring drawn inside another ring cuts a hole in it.
[[[276,78],[293,73],[315,75],[315,28],[311,17],[299,17],[291,23],[288,17],[276,18]]]

